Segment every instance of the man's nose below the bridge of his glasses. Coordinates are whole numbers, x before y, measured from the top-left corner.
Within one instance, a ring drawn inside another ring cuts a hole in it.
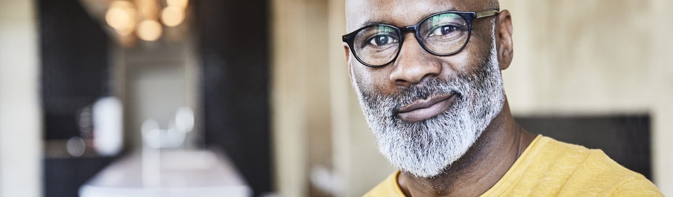
[[[394,69],[390,73],[390,81],[398,86],[410,86],[421,83],[429,77],[437,77],[441,73],[441,63],[435,55],[423,49],[414,34],[404,36],[397,59],[389,66]]]

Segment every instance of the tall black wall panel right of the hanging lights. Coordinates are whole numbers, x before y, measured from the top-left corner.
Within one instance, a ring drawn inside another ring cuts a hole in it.
[[[205,141],[232,158],[256,195],[271,191],[267,4],[194,1],[203,54]]]

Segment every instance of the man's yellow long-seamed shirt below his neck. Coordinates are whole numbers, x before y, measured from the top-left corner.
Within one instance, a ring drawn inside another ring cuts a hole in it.
[[[365,194],[404,196],[396,171]],[[493,188],[481,196],[664,196],[643,175],[587,149],[538,135]]]

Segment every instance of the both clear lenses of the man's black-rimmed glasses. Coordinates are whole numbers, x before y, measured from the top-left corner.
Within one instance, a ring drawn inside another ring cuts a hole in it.
[[[418,36],[431,52],[451,54],[465,45],[469,30],[468,23],[460,15],[443,13],[425,19],[419,26]],[[385,65],[400,50],[400,35],[389,26],[365,28],[356,34],[353,49],[363,63]]]

